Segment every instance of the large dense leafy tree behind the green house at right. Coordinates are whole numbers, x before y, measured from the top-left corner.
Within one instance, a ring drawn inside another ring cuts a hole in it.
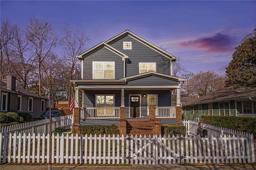
[[[226,86],[256,87],[256,28],[236,47],[226,68]]]

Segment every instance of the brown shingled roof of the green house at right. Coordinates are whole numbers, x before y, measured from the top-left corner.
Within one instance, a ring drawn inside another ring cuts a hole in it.
[[[220,101],[230,101],[238,99],[248,99],[256,97],[256,87],[226,87],[217,91],[213,91],[197,99],[184,103],[184,106],[198,105],[203,103],[213,103]]]

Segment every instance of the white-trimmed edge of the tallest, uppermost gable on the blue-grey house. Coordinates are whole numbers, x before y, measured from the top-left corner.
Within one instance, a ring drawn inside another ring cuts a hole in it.
[[[154,51],[156,51],[156,52],[158,52],[158,53],[164,55],[165,57],[168,57],[168,58],[172,59],[172,61],[175,61],[175,60],[177,59],[174,55],[172,55],[172,54],[170,54],[170,53],[168,53],[168,52],[166,52],[166,51],[160,49],[160,48],[157,47],[156,45],[154,45],[154,44],[148,42],[147,40],[144,40],[144,39],[141,38],[140,36],[137,36],[136,34],[130,32],[129,30],[126,30],[126,31],[124,31],[124,32],[122,32],[122,33],[120,33],[120,34],[118,34],[117,36],[115,36],[115,37],[111,38],[110,40],[106,41],[106,43],[107,43],[107,44],[112,44],[112,43],[116,42],[117,40],[120,40],[121,38],[123,38],[123,37],[125,37],[125,36],[130,36],[131,38],[134,38],[134,39],[137,40],[138,42],[143,43],[144,45],[150,47],[150,48],[153,49]]]

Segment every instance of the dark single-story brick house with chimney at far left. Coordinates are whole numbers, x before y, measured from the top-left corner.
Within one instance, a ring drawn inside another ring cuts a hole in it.
[[[28,112],[39,118],[47,108],[48,98],[16,87],[16,77],[6,76],[0,81],[0,112]]]

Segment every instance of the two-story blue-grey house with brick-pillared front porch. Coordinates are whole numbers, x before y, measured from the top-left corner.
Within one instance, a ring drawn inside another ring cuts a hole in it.
[[[181,124],[180,83],[185,79],[172,75],[175,56],[126,30],[77,57],[81,79],[70,81],[76,91],[74,129],[116,124],[122,134],[138,133],[142,127],[153,134],[162,124]],[[172,91],[177,93],[176,106]]]

